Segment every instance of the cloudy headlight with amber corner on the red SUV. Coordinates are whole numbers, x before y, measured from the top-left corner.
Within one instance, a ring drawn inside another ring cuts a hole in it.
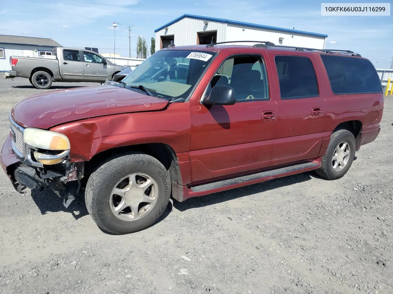
[[[70,150],[70,141],[67,136],[53,131],[26,128],[23,141],[32,147],[45,150]]]

